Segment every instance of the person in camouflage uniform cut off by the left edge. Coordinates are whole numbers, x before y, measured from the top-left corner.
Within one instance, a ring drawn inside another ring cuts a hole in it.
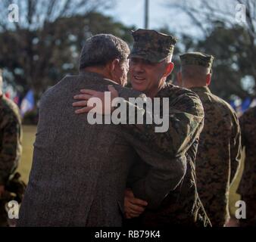
[[[1,71],[1,70],[0,70]],[[5,212],[5,186],[17,168],[21,154],[20,114],[16,104],[2,93],[0,73],[0,226],[8,225]]]

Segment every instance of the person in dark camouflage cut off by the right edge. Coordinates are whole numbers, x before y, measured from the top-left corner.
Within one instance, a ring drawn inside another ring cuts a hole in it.
[[[251,107],[239,119],[242,147],[245,147],[245,169],[238,193],[246,203],[246,219],[241,226],[256,226],[256,107]]]

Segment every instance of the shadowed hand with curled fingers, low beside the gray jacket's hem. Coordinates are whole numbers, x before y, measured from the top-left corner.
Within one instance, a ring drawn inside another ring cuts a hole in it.
[[[133,195],[133,191],[126,189],[124,194],[124,212],[126,219],[139,217],[144,211],[148,203],[140,200]]]

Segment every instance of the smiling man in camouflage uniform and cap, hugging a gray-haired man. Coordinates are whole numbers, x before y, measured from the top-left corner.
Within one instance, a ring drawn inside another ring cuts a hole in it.
[[[145,185],[140,181],[145,177],[146,181],[148,174],[151,178],[155,176],[162,179],[165,175],[164,172],[152,169],[138,158],[130,171],[127,185],[129,189],[125,197],[126,217],[130,219],[128,223],[145,226],[211,225],[198,198],[195,185],[194,161],[198,137],[203,127],[204,110],[200,99],[193,92],[165,82],[173,70],[171,57],[176,39],[146,29],[133,32],[133,39],[135,42],[130,54],[131,84],[133,89],[144,92],[150,98],[161,98],[161,104],[163,98],[169,98],[169,129],[167,132],[155,132],[155,126],[146,124],[144,120],[142,125],[123,125],[123,132],[132,134],[136,140],[147,144],[151,147],[152,153],[158,152],[159,159],[168,157],[170,166],[174,160],[183,159],[186,163],[186,174],[180,184],[176,185],[158,205],[158,209],[151,209],[142,206],[142,200],[148,201],[148,197],[136,194],[136,191],[145,189]],[[88,99],[86,96],[84,98]],[[158,191],[155,191],[155,195],[158,196]],[[138,218],[132,219],[134,217]]]

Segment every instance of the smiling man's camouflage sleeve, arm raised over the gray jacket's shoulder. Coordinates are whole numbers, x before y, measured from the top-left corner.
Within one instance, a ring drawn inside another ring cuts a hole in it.
[[[161,100],[163,100],[161,98]],[[127,102],[128,105],[132,106]],[[151,149],[177,157],[185,154],[195,136],[201,132],[204,119],[204,109],[199,98],[189,95],[180,97],[175,104],[169,104],[167,112],[161,118],[163,124],[158,125],[152,112],[136,107],[138,113],[143,113],[143,124],[123,126],[124,132],[129,132],[134,138],[145,142]],[[160,110],[163,110],[163,102],[160,102]],[[166,108],[165,108],[166,110]],[[161,112],[160,112],[161,113]],[[155,114],[155,113],[154,113]],[[152,117],[152,124],[147,124],[146,119]],[[131,116],[130,116],[131,117]],[[130,120],[129,120],[130,121]],[[159,127],[164,127],[164,132],[157,132]]]

